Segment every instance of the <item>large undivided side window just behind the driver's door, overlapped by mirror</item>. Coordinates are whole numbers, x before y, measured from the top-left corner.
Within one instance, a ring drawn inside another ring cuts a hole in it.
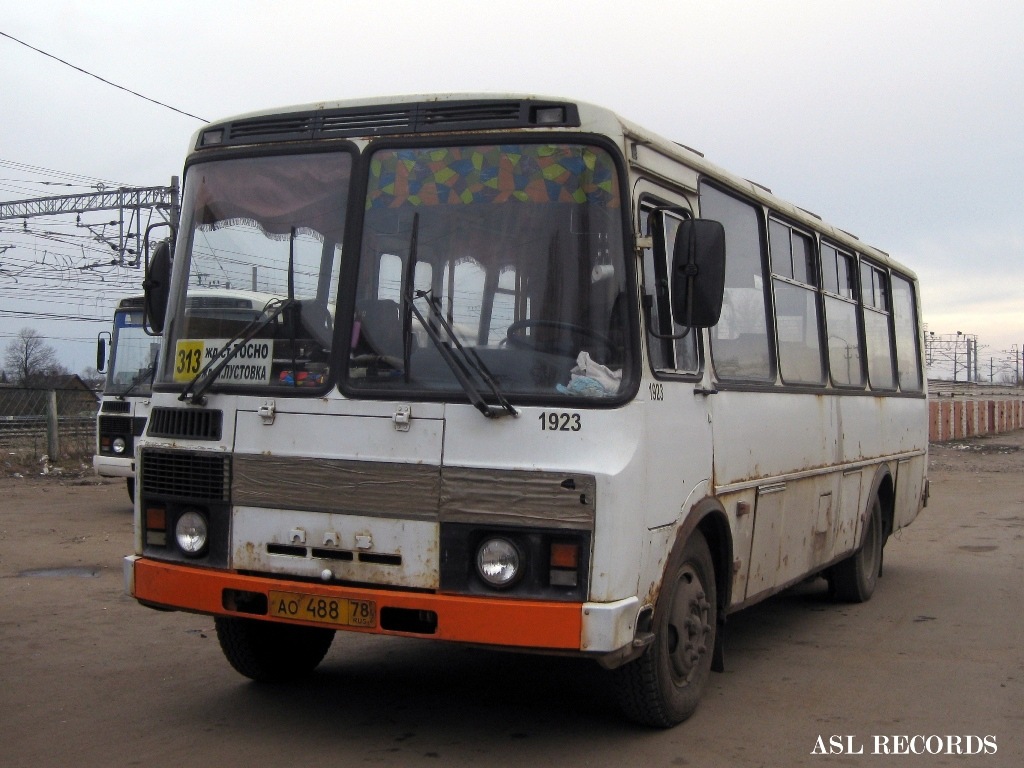
[[[711,329],[712,359],[722,379],[774,381],[765,305],[758,210],[701,182],[700,217],[725,227],[725,301]]]

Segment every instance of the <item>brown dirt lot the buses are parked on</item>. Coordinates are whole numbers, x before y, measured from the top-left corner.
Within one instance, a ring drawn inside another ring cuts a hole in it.
[[[623,723],[589,663],[429,641],[339,634],[310,682],[250,683],[212,620],[123,594],[122,483],[5,477],[0,766],[1021,766],[1024,432],[931,464],[873,599],[818,581],[730,617],[670,731]]]

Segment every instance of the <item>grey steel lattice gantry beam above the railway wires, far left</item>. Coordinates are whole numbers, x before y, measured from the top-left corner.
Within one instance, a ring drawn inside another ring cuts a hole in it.
[[[89,211],[119,211],[119,236],[115,250],[118,263],[126,265],[125,255],[134,252],[128,266],[137,267],[142,253],[142,211],[156,212],[171,225],[177,225],[179,215],[178,177],[171,177],[170,186],[121,186],[117,189],[100,189],[84,195],[58,195],[50,198],[31,198],[0,203],[0,221],[29,219],[33,216],[55,216]],[[152,218],[152,216],[151,216]],[[131,231],[131,221],[135,219],[135,231]],[[128,224],[126,231],[126,224]],[[128,247],[131,239],[135,248]]]

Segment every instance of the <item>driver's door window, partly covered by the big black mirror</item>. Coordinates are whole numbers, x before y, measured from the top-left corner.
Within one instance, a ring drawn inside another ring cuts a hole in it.
[[[651,225],[659,220],[651,216],[653,204],[644,204],[640,209],[640,231],[652,236]],[[662,257],[655,257],[655,249],[645,248],[643,251],[643,293],[652,298],[647,328],[647,348],[651,368],[658,373],[692,374],[699,370],[697,356],[697,337],[694,329],[681,339],[658,339],[651,334],[656,331],[663,336],[678,336],[686,329],[673,323],[672,296],[670,287],[670,267],[672,251],[675,246],[676,232],[679,230],[678,215],[663,213],[665,221],[666,244]]]

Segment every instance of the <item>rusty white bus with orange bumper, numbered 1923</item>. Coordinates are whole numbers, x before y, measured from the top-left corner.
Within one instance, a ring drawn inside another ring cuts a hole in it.
[[[276,300],[198,321],[211,275]],[[147,282],[126,588],[256,680],[337,630],[570,653],[668,727],[729,613],[814,574],[866,600],[927,500],[913,273],[590,104],[210,124]]]

